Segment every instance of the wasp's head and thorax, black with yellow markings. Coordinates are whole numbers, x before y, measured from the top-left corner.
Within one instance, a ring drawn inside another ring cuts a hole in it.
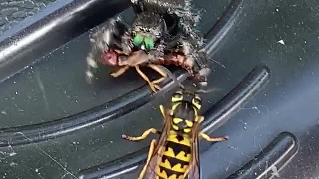
[[[199,95],[178,90],[173,94],[171,101],[173,128],[186,133],[190,132],[201,108]]]

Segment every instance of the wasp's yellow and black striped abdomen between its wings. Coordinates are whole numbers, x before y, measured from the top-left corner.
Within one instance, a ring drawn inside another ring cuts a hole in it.
[[[187,135],[171,131],[167,137],[162,161],[157,167],[157,179],[183,179],[191,159],[191,143]]]

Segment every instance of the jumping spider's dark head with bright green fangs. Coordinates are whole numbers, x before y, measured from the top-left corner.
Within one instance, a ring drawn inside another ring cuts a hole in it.
[[[166,23],[162,16],[155,13],[142,13],[133,23],[133,45],[143,50],[152,49],[166,31]]]

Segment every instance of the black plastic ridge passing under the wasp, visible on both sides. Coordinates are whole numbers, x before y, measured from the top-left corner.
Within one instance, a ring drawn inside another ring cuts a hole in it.
[[[205,123],[203,124],[202,131],[212,131],[217,128],[214,125],[220,126],[222,124],[220,121],[225,121],[225,119],[233,116],[240,106],[251,99],[268,82],[270,77],[270,73],[268,72],[269,70],[266,66],[253,69],[237,87],[215,106],[208,109],[204,114]],[[147,151],[148,147],[114,161],[84,169],[79,173],[80,179],[109,179],[133,171],[146,159]]]

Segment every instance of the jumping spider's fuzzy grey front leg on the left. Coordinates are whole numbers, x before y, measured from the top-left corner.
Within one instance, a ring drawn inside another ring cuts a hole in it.
[[[122,36],[128,31],[128,25],[121,17],[112,18],[93,29],[89,35],[91,49],[87,55],[86,81],[92,83],[94,73],[98,68],[97,62],[117,65],[114,57],[107,54],[110,48],[122,48]]]

